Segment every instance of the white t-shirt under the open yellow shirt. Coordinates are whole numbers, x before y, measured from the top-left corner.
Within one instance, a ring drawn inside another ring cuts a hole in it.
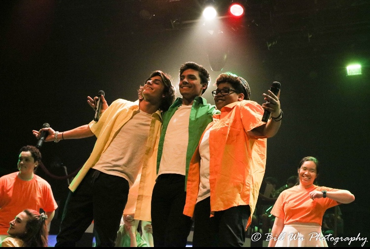
[[[93,168],[123,177],[131,187],[143,166],[150,122],[151,114],[139,110],[118,131]]]

